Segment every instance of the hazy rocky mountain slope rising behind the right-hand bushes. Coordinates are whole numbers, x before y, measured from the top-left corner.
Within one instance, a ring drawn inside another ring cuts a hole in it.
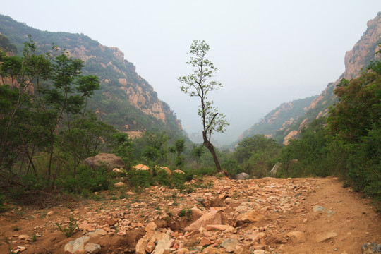
[[[361,68],[368,65],[370,61],[381,59],[379,55],[375,55],[378,49],[377,44],[381,43],[381,12],[377,13],[373,20],[369,20],[367,26],[367,30],[353,49],[346,52],[345,71],[335,82],[329,83],[320,95],[281,104],[258,123],[244,131],[240,138],[253,134],[264,134],[286,145],[290,138],[298,136],[303,126],[313,119],[326,116],[329,107],[336,102],[333,90],[341,79],[356,78]]]

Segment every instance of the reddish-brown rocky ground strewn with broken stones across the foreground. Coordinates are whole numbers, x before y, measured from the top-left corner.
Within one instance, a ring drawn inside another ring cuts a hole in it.
[[[380,213],[338,179],[202,183],[190,194],[153,186],[42,210],[13,207],[0,214],[0,253],[354,254],[381,243]],[[56,223],[68,228],[70,217],[80,230],[66,237]]]

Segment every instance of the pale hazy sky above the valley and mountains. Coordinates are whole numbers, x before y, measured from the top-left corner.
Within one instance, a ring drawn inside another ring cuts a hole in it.
[[[180,89],[193,40],[224,86],[210,94],[230,126],[219,144],[283,102],[319,95],[344,72],[345,52],[381,11],[380,0],[1,0],[0,13],[32,28],[83,33],[118,47],[187,133],[201,132],[199,99]]]

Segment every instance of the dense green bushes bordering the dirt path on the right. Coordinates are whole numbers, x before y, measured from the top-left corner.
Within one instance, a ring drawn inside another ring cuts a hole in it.
[[[334,174],[381,203],[380,66],[370,63],[358,78],[341,80],[328,119],[311,122],[282,149],[279,176]]]

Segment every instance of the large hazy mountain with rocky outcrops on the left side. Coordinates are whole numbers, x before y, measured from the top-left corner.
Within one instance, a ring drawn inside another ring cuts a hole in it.
[[[0,15],[0,34],[23,52],[23,42],[32,35],[38,47],[49,50],[52,43],[84,61],[85,75],[97,75],[100,90],[90,99],[88,109],[131,138],[145,131],[166,131],[171,138],[184,138],[181,123],[169,105],[157,97],[152,85],[135,71],[116,47],[106,47],[83,34],[47,32],[30,28]]]

